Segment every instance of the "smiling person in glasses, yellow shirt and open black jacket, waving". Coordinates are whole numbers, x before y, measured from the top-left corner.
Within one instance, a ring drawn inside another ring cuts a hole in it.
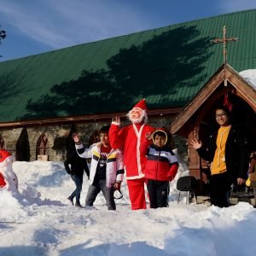
[[[215,110],[219,125],[203,144],[198,138],[190,139],[189,145],[195,148],[201,158],[211,162],[212,205],[230,206],[230,186],[241,186],[247,179],[249,143],[242,127],[230,124],[230,110],[220,106]]]

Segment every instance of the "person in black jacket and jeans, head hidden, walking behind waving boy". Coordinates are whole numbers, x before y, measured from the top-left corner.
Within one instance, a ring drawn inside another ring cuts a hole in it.
[[[89,168],[87,166],[87,162],[85,159],[80,158],[79,155],[74,151],[73,154],[71,154],[67,160],[65,160],[64,166],[67,173],[70,174],[73,182],[76,185],[76,189],[74,189],[73,193],[67,197],[67,200],[71,201],[73,204],[73,199],[75,197],[75,206],[82,207],[80,204],[80,195],[82,191],[84,172],[86,172],[87,177],[89,178]]]

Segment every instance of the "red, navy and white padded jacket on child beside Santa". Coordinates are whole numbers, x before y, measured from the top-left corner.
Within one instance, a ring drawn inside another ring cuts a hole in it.
[[[172,181],[177,174],[177,156],[170,148],[148,148],[145,177],[158,181]]]

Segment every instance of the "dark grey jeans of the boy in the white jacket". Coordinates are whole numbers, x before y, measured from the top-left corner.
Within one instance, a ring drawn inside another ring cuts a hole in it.
[[[107,203],[108,210],[115,210],[115,202],[113,199],[113,187],[107,188],[106,187],[106,179],[100,179],[96,181],[96,183],[93,183],[90,185],[87,196],[85,199],[85,207],[92,207],[94,201],[96,201],[96,196],[102,191],[102,194],[104,195],[104,198]]]

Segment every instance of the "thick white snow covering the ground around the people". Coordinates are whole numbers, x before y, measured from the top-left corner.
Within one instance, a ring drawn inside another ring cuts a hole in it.
[[[13,164],[19,192],[0,190],[0,255],[255,255],[256,210],[246,202],[229,208],[177,204],[177,178],[170,207],[131,211],[125,182],[117,211],[102,195],[95,208],[68,204],[74,183],[61,162]],[[89,186],[84,175],[81,203]]]

